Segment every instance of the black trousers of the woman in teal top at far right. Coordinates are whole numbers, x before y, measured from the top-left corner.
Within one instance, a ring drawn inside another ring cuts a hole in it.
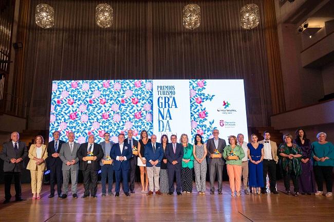
[[[327,192],[332,192],[333,180],[332,172],[333,167],[328,166],[313,166],[314,177],[318,185],[318,191],[323,191],[323,182],[326,182]]]

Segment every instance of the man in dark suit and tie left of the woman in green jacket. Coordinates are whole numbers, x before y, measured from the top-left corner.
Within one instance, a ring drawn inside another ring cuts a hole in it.
[[[181,169],[182,169],[182,158],[183,158],[183,147],[180,143],[176,142],[176,135],[171,136],[171,143],[166,147],[166,157],[167,157],[167,170],[168,170],[168,180],[169,180],[169,193],[168,195],[173,195],[174,193],[174,175],[176,176],[176,193],[181,194]]]

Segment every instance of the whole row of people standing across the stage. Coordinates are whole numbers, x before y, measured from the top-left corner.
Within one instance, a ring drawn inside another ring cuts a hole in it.
[[[296,131],[296,137],[284,134],[284,143],[277,147],[270,140],[270,133],[264,132],[264,140],[258,141],[255,134],[251,142],[244,141],[244,135],[228,137],[228,145],[219,138],[217,129],[213,137],[205,143],[200,134],[196,134],[194,144],[189,142],[187,134],[182,134],[179,142],[177,136],[162,135],[160,142],[157,136],[149,135],[145,130],[140,133],[140,139],[133,138],[133,131],[118,135],[118,143],[110,141],[110,134],[104,134],[104,141],[95,143],[95,136],[89,135],[88,142],[75,142],[75,134],[68,133],[68,142],[60,140],[60,132],[53,132],[53,141],[48,146],[44,144],[41,135],[36,136],[29,151],[24,142],[19,141],[17,132],[11,134],[11,141],[4,144],[0,158],[4,160],[5,201],[11,199],[10,186],[12,178],[15,181],[15,200],[21,198],[21,171],[24,169],[23,159],[29,157],[27,165],[31,174],[32,199],[40,199],[43,173],[46,170],[46,160],[50,169],[50,195],[54,197],[54,186],[57,183],[59,198],[67,198],[69,179],[71,179],[72,197],[78,198],[78,173],[83,173],[84,194],[97,197],[98,172],[101,170],[102,196],[114,195],[113,178],[115,172],[115,196],[119,196],[120,183],[126,196],[135,193],[135,171],[140,169],[141,193],[147,195],[173,195],[176,193],[192,193],[193,172],[195,173],[196,190],[199,194],[206,192],[206,175],[209,168],[210,193],[215,193],[214,181],[218,180],[218,194],[222,194],[222,170],[226,164],[229,176],[231,195],[240,196],[243,178],[245,194],[266,194],[267,174],[270,182],[270,192],[279,194],[276,190],[276,168],[279,166],[284,179],[286,194],[298,196],[301,194],[332,196],[332,169],[334,167],[334,146],[326,141],[326,133],[317,135],[318,141],[310,142],[302,128]],[[317,181],[318,191],[314,183]],[[106,181],[108,179],[108,188]],[[290,192],[292,179],[294,192]],[[323,181],[326,182],[326,193],[323,191]]]

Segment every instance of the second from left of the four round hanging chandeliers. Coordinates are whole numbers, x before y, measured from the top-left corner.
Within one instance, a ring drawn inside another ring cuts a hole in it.
[[[114,10],[106,4],[99,4],[95,10],[95,21],[101,28],[109,28],[114,22]]]

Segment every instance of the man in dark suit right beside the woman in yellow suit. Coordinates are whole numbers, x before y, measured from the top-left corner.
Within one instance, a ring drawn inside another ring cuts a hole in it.
[[[60,132],[54,131],[53,139],[48,144],[48,165],[50,169],[50,195],[49,198],[54,197],[54,184],[57,181],[58,197],[62,195],[63,184],[63,161],[59,158],[59,153],[62,148],[62,144],[65,142],[60,140]]]

